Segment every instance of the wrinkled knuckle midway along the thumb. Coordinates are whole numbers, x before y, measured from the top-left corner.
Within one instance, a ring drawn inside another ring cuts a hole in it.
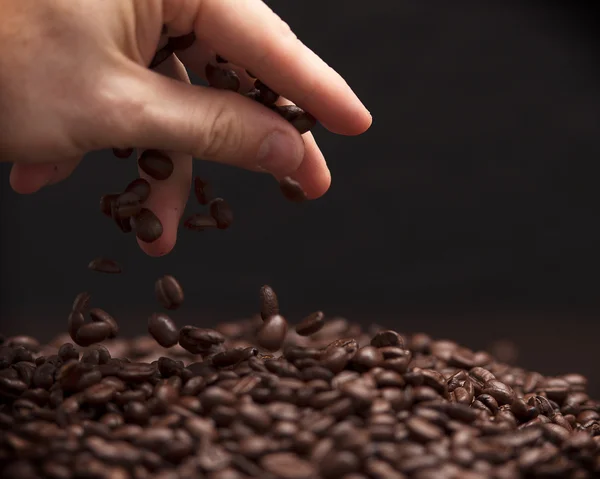
[[[202,156],[213,159],[229,156],[243,147],[244,129],[240,115],[228,105],[218,105],[206,125]]]

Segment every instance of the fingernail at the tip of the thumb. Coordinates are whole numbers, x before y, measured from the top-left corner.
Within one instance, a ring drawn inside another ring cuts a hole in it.
[[[263,140],[258,149],[258,168],[281,176],[298,169],[304,157],[304,143],[292,135],[274,131]]]

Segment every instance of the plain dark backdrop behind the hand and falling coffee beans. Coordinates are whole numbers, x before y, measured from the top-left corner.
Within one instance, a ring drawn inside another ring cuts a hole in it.
[[[142,334],[165,273],[185,286],[180,325],[211,325],[255,312],[268,283],[292,320],[323,309],[473,348],[508,338],[521,365],[582,372],[600,396],[595,12],[523,0],[269,3],[375,119],[357,138],[317,129],[331,191],[290,204],[267,176],[197,162],[235,224],[183,232],[172,254],[150,259],[97,211],[134,177],[133,161],[91,154],[33,196],[10,190],[2,164],[4,334],[64,331],[84,289]],[[88,271],[99,255],[126,273]]]

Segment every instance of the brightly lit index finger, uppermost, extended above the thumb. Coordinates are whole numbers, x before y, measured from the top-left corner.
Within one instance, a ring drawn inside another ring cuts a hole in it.
[[[371,115],[346,81],[305,46],[262,0],[201,0],[196,36],[328,130],[358,135]]]

